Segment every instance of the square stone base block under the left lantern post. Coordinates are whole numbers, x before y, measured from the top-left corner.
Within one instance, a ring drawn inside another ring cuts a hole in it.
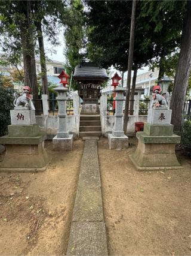
[[[70,134],[68,138],[57,138],[57,135],[53,138],[53,150],[55,151],[71,151],[73,146],[73,134]]]

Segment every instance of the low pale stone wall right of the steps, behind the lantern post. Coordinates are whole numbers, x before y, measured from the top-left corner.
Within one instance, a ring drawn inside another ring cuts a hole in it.
[[[115,116],[100,115],[100,117],[102,134],[107,137],[109,133],[112,133]],[[127,125],[127,135],[129,137],[135,135],[135,122],[147,122],[147,116],[129,116]]]

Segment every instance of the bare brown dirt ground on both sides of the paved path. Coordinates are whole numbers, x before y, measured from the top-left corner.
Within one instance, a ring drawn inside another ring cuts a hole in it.
[[[127,150],[98,141],[110,255],[191,255],[191,159],[183,170],[136,171]],[[42,173],[0,174],[0,255],[63,255],[69,239],[84,142],[54,152]]]

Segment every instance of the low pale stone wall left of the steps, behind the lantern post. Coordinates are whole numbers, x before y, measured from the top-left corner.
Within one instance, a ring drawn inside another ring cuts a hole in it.
[[[58,116],[36,116],[36,124],[47,134],[47,139],[51,140],[58,129]],[[74,137],[79,135],[79,116],[67,116],[67,128]]]

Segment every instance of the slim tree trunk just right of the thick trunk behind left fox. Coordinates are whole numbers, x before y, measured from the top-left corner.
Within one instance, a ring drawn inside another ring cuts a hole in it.
[[[39,53],[40,53],[40,62],[41,62],[42,91],[43,91],[43,94],[49,95],[48,80],[47,80],[47,65],[46,65],[46,58],[45,58],[44,38],[42,34],[41,22],[36,22],[36,28],[38,32],[38,44],[39,44]]]

